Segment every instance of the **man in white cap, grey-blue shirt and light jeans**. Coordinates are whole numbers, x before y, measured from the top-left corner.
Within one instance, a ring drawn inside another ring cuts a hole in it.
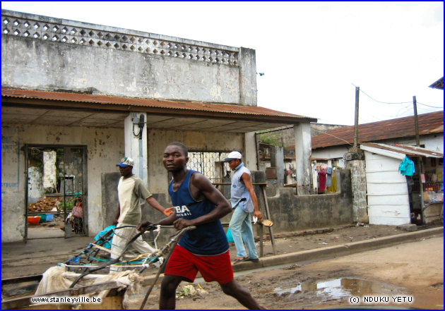
[[[251,213],[254,212],[254,216],[259,220],[261,220],[263,215],[259,211],[258,200],[251,182],[251,173],[244,166],[241,153],[237,151],[230,152],[225,161],[229,162],[230,169],[234,171],[232,187],[230,188],[233,214],[229,224],[230,232],[237,248],[237,257],[235,257],[233,264],[249,260],[258,262],[254,231],[252,231],[251,225]],[[246,244],[249,255],[246,253],[244,244]]]

